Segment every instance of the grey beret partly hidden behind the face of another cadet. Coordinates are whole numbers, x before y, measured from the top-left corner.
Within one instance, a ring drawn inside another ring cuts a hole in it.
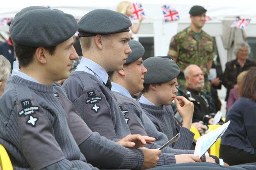
[[[130,64],[131,62],[134,62],[135,60],[141,58],[145,53],[145,49],[139,41],[130,40],[128,44],[132,49],[132,53],[128,54],[128,58],[126,59],[125,64]]]

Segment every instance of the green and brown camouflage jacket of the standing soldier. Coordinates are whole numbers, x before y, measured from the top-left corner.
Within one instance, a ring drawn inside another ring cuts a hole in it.
[[[177,58],[182,72],[189,64],[196,64],[208,75],[207,63],[215,55],[213,38],[202,31],[197,39],[191,27],[187,27],[172,38],[168,55]]]

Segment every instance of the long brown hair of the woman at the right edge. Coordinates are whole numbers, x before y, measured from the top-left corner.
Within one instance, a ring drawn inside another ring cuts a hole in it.
[[[256,101],[256,67],[249,69],[240,87],[240,97]]]

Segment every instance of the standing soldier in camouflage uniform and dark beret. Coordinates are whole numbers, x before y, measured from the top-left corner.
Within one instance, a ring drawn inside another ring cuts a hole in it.
[[[185,90],[187,84],[183,74],[184,69],[189,64],[198,65],[205,77],[204,89],[210,91],[211,84],[208,81],[208,73],[214,58],[213,38],[202,27],[206,21],[206,9],[202,6],[193,6],[190,11],[191,26],[176,34],[170,43],[170,55],[181,69],[177,77],[182,90]],[[185,86],[185,87],[184,87]]]

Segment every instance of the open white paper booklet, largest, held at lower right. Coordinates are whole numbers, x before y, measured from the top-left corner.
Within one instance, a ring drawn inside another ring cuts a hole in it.
[[[224,123],[219,128],[213,130],[212,132],[206,133],[205,135],[199,137],[197,139],[197,144],[195,147],[194,155],[201,157],[210,147],[215,143],[226,131],[230,121]]]

